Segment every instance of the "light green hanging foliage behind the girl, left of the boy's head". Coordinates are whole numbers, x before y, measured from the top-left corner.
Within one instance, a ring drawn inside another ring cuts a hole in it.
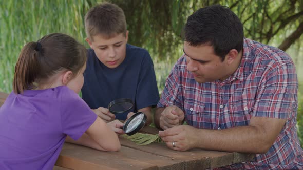
[[[22,47],[42,36],[61,32],[84,44],[86,1],[2,1],[0,3],[0,91],[12,90],[14,65]]]

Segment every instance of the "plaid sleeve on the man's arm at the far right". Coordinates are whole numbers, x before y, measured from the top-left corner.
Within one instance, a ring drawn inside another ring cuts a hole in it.
[[[252,116],[289,119],[296,113],[298,81],[293,63],[272,70],[260,83]]]

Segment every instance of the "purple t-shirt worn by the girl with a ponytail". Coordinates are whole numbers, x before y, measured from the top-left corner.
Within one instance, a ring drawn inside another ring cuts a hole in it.
[[[12,92],[0,107],[0,169],[52,169],[66,136],[79,139],[96,119],[66,86]]]

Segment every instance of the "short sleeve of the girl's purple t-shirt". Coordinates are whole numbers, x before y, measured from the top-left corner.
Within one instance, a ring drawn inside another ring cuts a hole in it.
[[[72,139],[78,140],[96,119],[97,115],[79,96],[62,99],[62,132]]]

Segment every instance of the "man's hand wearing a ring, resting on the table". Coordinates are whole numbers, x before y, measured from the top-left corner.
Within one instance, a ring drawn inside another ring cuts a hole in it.
[[[193,128],[192,126],[180,125],[164,131],[159,131],[159,136],[172,150],[187,151],[197,147],[197,130],[198,129]],[[175,142],[174,146],[173,142]]]

